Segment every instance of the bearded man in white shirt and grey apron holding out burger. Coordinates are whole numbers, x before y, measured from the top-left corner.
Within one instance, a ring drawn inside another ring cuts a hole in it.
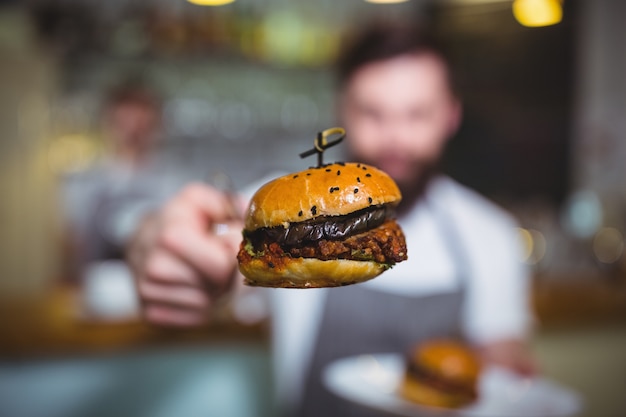
[[[266,291],[287,414],[368,415],[322,386],[324,367],[346,356],[404,353],[431,338],[462,337],[488,363],[533,373],[516,223],[437,169],[462,116],[444,53],[416,28],[373,27],[343,51],[338,79],[348,160],[398,183],[409,260],[360,285]],[[213,233],[218,223],[231,227]],[[216,300],[241,282],[242,227],[227,196],[201,185],[146,217],[129,251],[145,318],[176,326],[210,320]]]

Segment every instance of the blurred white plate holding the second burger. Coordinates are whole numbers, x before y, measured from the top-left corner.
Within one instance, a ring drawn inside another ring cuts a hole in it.
[[[331,363],[323,379],[346,400],[400,416],[563,417],[581,409],[580,397],[553,381],[496,367],[483,370],[474,404],[453,411],[420,406],[398,394],[404,366],[397,354],[354,356]]]

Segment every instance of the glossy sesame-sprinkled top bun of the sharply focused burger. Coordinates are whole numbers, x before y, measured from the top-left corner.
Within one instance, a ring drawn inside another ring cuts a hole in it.
[[[360,163],[334,163],[292,173],[252,197],[245,228],[287,227],[318,216],[341,216],[369,206],[397,205],[402,196],[383,171]]]

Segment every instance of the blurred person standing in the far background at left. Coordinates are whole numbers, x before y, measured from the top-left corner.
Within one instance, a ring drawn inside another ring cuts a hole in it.
[[[181,183],[168,183],[172,175],[155,155],[161,103],[150,89],[134,81],[114,87],[105,97],[101,121],[105,155],[63,184],[65,213],[83,265],[121,259],[134,223],[131,212],[158,206]]]

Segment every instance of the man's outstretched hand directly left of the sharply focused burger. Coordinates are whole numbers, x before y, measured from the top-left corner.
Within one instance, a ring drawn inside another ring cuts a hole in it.
[[[144,219],[127,253],[148,321],[208,321],[216,300],[232,287],[243,227],[235,218],[225,194],[194,184]]]

